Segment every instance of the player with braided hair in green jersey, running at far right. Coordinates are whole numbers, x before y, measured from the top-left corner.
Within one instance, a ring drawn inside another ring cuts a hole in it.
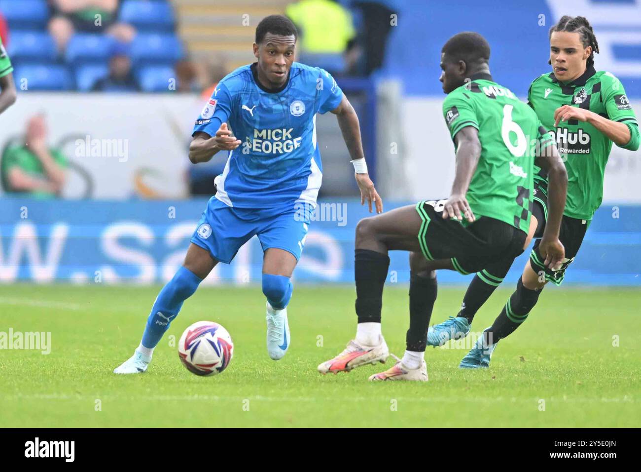
[[[604,169],[612,143],[631,151],[639,148],[637,119],[623,85],[612,74],[594,69],[594,53],[599,52],[599,45],[587,19],[564,16],[551,28],[549,37],[549,64],[553,72],[542,74],[532,82],[528,104],[545,128],[554,130],[569,176],[560,230],[565,258],[560,270],[549,270],[540,244],[535,243],[516,291],[494,324],[463,358],[459,366],[462,368],[488,367],[496,343],[527,319],[545,284],[562,283],[592,216],[601,205]],[[536,197],[545,209],[545,171],[540,171],[535,179]],[[545,227],[545,213],[542,216],[537,235]],[[507,258],[478,272],[465,293],[458,315],[429,328],[428,345],[465,337],[474,315],[501,284],[511,265],[512,260]]]

